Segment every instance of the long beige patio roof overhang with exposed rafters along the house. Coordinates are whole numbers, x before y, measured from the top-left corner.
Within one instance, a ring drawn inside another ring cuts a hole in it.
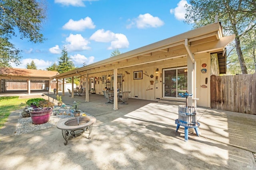
[[[120,69],[150,63],[160,64],[178,57],[189,56],[193,60],[195,54],[225,52],[225,47],[234,38],[235,35],[223,37],[220,22],[212,23],[51,78],[86,76],[86,74],[114,70],[115,68]]]

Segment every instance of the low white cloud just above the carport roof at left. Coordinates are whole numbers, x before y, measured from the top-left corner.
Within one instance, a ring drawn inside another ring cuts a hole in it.
[[[36,64],[38,70],[45,70],[54,63],[52,61],[44,61],[42,59],[23,59],[20,61],[20,65],[16,66],[15,63],[11,63],[11,65],[13,68],[26,68],[27,63],[30,64],[32,60]]]

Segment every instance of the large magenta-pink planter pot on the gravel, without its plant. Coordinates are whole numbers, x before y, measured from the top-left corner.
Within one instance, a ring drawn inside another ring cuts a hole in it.
[[[32,111],[29,111],[29,113],[34,124],[43,124],[49,121],[52,114],[52,107],[36,108]]]

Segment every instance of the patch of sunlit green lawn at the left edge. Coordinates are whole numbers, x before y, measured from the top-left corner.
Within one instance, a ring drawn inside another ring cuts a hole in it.
[[[0,129],[4,126],[8,116],[14,110],[22,109],[28,99],[19,99],[19,96],[0,97]]]

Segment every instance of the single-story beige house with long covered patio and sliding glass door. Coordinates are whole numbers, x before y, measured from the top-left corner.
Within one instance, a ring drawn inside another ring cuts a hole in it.
[[[234,38],[224,37],[220,22],[212,23],[51,78],[81,76],[89,82],[87,102],[89,91],[105,89],[131,91],[130,98],[176,101],[184,101],[178,93],[188,90],[193,94],[188,104],[210,107],[210,76],[226,72],[225,47]],[[113,109],[117,106],[114,95]]]

